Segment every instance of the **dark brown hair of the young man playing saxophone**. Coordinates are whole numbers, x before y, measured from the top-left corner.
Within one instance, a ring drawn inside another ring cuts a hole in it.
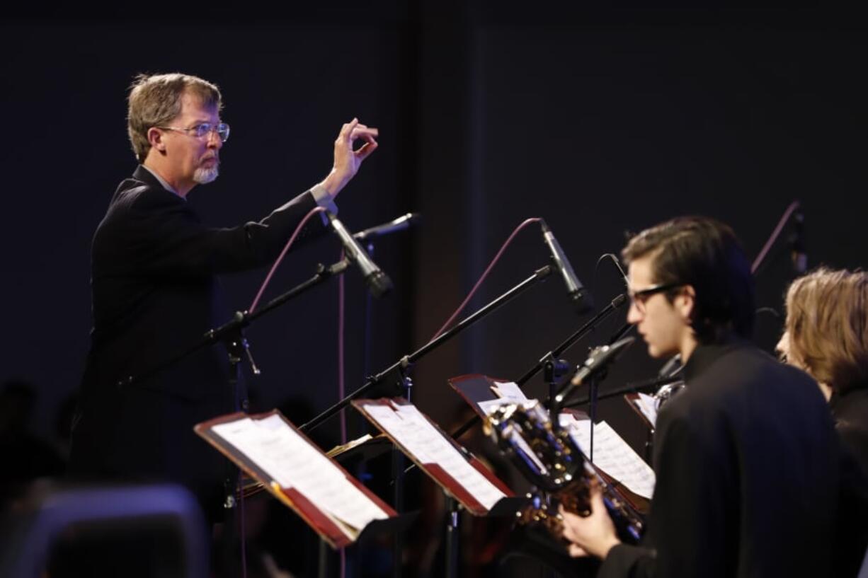
[[[693,286],[692,326],[700,343],[753,332],[753,273],[733,230],[707,217],[678,217],[642,231],[621,255],[652,257],[654,283]],[[674,299],[675,292],[667,297]]]

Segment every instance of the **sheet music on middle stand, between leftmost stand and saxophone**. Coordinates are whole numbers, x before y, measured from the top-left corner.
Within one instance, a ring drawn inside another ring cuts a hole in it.
[[[468,463],[415,405],[365,405],[365,412],[421,463],[437,463],[477,502],[492,509],[505,494]]]

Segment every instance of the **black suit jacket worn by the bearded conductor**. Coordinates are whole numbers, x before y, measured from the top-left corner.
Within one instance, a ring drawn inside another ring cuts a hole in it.
[[[192,428],[233,411],[223,345],[135,385],[116,384],[225,322],[215,275],[266,265],[314,207],[307,192],[259,222],[211,228],[144,167],[121,183],[93,240],[94,327],[73,432],[74,474],[169,480],[203,502],[219,500],[226,463]],[[313,218],[299,240],[324,230]]]

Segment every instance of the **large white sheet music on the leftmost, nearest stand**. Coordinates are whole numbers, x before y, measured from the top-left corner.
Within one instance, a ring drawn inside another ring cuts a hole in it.
[[[282,488],[293,488],[338,520],[364,529],[388,517],[338,469],[277,414],[215,425],[215,434],[232,443]]]

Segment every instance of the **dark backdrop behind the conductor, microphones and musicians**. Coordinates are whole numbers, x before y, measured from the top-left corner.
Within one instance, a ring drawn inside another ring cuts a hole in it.
[[[378,242],[395,282],[374,303],[371,371],[423,345],[525,218],[545,218],[598,305],[621,292],[611,263],[627,231],[684,213],[731,224],[753,257],[792,200],[811,266],[865,266],[864,20],[841,10],[590,10],[558,3],[382,2],[331,10],[162,16],[50,11],[0,23],[3,283],[0,379],[25,378],[33,427],[76,389],[88,349],[89,241],[135,168],[126,91],[139,72],[216,82],[233,127],[220,179],[189,197],[203,219],[259,219],[331,167],[342,122],[380,129],[380,148],[339,198],[360,229],[418,211],[423,224]],[[779,311],[792,279],[786,238],[758,276]],[[337,259],[333,240],[287,259],[270,295]],[[519,233],[474,305],[547,262]],[[265,272],[227,277],[246,308]],[[346,381],[363,382],[365,291],[346,275]],[[338,288],[332,282],[248,332],[264,373],[256,409],[287,397],[322,411],[338,398]],[[610,319],[566,355],[621,324]],[[444,426],[458,397],[445,379],[517,378],[583,322],[549,279],[418,364],[414,400]],[[780,320],[759,317],[771,350]],[[641,345],[603,387],[654,375]],[[537,380],[538,382],[538,380]],[[535,382],[530,392],[539,395]],[[637,449],[620,400],[601,417]],[[337,436],[337,420],[324,427]]]

